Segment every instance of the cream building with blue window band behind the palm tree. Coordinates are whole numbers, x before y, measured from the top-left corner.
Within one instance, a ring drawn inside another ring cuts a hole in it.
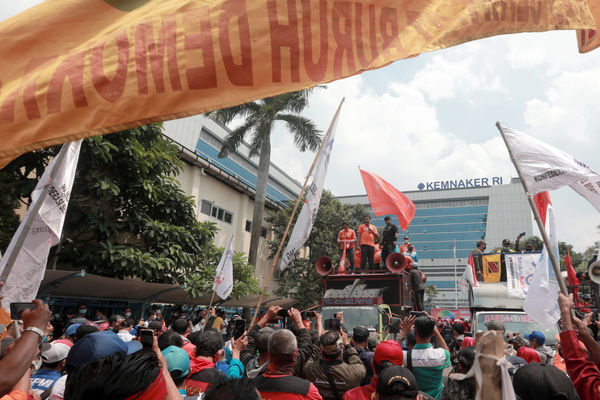
[[[198,220],[217,225],[217,246],[225,247],[233,236],[234,250],[248,253],[258,158],[249,157],[246,143],[229,156],[219,158],[221,145],[230,130],[204,115],[168,121],[164,126],[165,135],[180,147],[185,167],[177,179],[183,190],[194,198]],[[295,200],[301,189],[302,185],[271,163],[265,216],[285,206],[288,200]],[[262,287],[271,268],[266,245],[266,240],[272,239],[271,229],[265,221],[261,236],[264,240],[260,242],[255,273]],[[276,288],[277,281],[272,281],[269,293]]]

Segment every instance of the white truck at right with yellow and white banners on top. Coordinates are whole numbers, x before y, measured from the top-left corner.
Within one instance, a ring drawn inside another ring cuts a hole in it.
[[[554,346],[555,336],[559,333],[556,326],[544,329],[536,324],[523,311],[524,299],[509,298],[506,282],[478,282],[470,287],[469,305],[471,310],[472,333],[486,331],[489,321],[500,321],[506,327],[505,335],[519,332],[521,336],[539,331],[546,336],[546,344]]]

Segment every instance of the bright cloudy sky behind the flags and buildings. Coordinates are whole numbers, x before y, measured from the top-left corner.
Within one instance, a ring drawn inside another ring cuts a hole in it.
[[[39,2],[0,2],[0,21]],[[325,181],[337,196],[365,193],[359,165],[401,191],[448,179],[509,181],[517,173],[496,121],[600,171],[600,49],[579,54],[573,31],[495,36],[396,61],[315,90],[304,115],[325,132],[343,97]],[[314,154],[299,154],[283,126],[272,146],[271,160],[303,182]],[[569,188],[551,197],[559,240],[577,251],[600,240],[589,203]]]

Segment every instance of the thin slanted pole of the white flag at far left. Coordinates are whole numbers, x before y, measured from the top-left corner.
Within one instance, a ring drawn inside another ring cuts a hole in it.
[[[27,214],[25,215],[25,220],[22,222],[24,224],[23,229],[21,229],[21,232],[19,232],[19,237],[17,238],[17,241],[15,242],[15,246],[11,249],[10,253],[4,254],[4,257],[8,257],[8,258],[6,261],[6,265],[4,266],[4,270],[2,271],[2,275],[0,275],[1,282],[6,282],[6,279],[8,279],[8,275],[11,273],[11,271],[15,265],[15,261],[17,261],[17,257],[19,256],[19,253],[21,252],[21,248],[23,247],[23,243],[25,243],[27,234],[29,233],[29,230],[31,229],[31,224],[33,224],[35,216],[40,211],[40,208],[42,208],[44,199],[46,198],[46,196],[48,195],[48,192],[50,191],[50,186],[54,182],[54,178],[56,178],[56,174],[58,173],[58,171],[60,171],[60,169],[62,167],[64,159],[67,155],[67,151],[66,150],[62,151],[62,150],[65,149],[66,145],[68,145],[68,143],[63,144],[60,148],[60,151],[56,155],[56,162],[52,166],[52,171],[50,171],[50,175],[48,176],[48,183],[44,186],[44,188],[42,189],[42,191],[41,191],[40,195],[37,197],[37,199],[35,199],[33,206],[31,206],[31,209],[27,210]],[[4,289],[5,287],[6,287],[6,285],[3,285],[2,287],[0,287],[0,292],[2,292],[2,289]]]

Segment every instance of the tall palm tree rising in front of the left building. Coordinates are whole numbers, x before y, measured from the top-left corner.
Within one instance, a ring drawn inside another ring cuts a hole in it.
[[[256,266],[258,244],[262,226],[263,211],[269,165],[271,162],[271,131],[277,121],[284,122],[294,135],[294,143],[300,151],[318,149],[321,135],[315,124],[300,114],[308,105],[308,96],[312,89],[285,93],[262,100],[252,101],[239,106],[224,108],[209,114],[224,124],[230,123],[236,117],[245,118],[242,125],[237,127],[223,142],[219,157],[226,157],[234,152],[250,136],[250,157],[259,156],[258,174],[256,177],[256,197],[252,215],[252,233],[248,262]]]

